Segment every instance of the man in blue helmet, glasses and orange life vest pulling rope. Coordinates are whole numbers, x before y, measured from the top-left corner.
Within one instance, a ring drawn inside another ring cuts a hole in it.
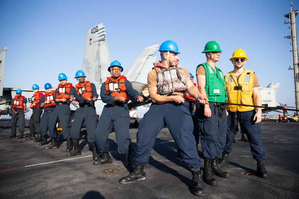
[[[112,163],[112,158],[109,154],[109,133],[114,127],[116,142],[119,152],[125,154],[125,166],[128,171],[133,171],[131,152],[131,139],[129,136],[130,114],[128,107],[129,99],[136,99],[138,102],[143,101],[143,97],[138,91],[134,90],[132,84],[125,76],[120,75],[123,71],[120,62],[112,61],[108,71],[111,77],[101,86],[100,96],[106,105],[103,108],[100,116],[95,138],[100,153],[103,153],[103,158],[93,162],[94,165],[103,165]]]

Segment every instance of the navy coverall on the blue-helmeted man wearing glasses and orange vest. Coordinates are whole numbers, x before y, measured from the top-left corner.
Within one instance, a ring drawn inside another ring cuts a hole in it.
[[[128,80],[125,80],[125,85],[127,95],[131,99],[136,99],[139,96],[138,91],[133,89],[132,84]],[[102,101],[107,103],[103,108],[95,131],[95,138],[100,153],[109,152],[108,136],[112,127],[115,130],[116,142],[120,153],[131,153],[133,149],[129,136],[130,114],[127,102],[114,102],[115,97],[106,95],[105,84],[102,84],[100,96]]]

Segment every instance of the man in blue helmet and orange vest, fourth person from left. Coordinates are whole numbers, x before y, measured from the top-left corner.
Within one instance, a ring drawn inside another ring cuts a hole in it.
[[[71,83],[67,83],[67,77],[64,73],[58,75],[59,83],[54,93],[54,101],[56,107],[49,120],[49,134],[51,137],[51,144],[45,146],[45,149],[57,149],[57,131],[56,124],[58,121],[61,123],[63,138],[66,139],[66,152],[72,150],[71,134],[70,134],[70,104],[73,101],[74,96],[71,96],[71,92],[74,90],[74,86]]]

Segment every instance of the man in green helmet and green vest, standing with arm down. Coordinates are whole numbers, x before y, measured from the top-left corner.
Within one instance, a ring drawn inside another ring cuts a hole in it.
[[[222,50],[216,41],[205,45],[207,61],[196,67],[196,79],[199,91],[208,97],[209,101],[227,102],[223,72],[216,67]],[[204,157],[203,179],[211,186],[218,184],[217,175],[229,178],[228,172],[223,172],[217,165],[218,157],[222,154],[227,129],[226,109],[223,104],[205,104],[196,110],[198,114],[201,146]]]

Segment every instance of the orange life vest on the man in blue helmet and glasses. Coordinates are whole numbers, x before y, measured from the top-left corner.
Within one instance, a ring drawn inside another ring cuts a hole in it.
[[[107,77],[107,80],[105,81],[106,95],[114,97],[123,96],[124,98],[129,99],[129,96],[126,93],[126,79],[127,78],[123,75],[119,76],[116,80],[112,77]]]

